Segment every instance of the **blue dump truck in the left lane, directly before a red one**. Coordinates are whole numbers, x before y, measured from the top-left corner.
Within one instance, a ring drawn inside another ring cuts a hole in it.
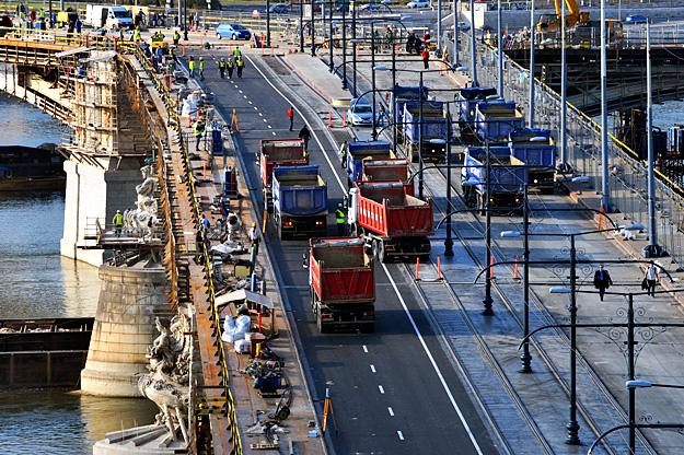
[[[281,240],[327,235],[327,187],[318,166],[275,167],[273,197]]]

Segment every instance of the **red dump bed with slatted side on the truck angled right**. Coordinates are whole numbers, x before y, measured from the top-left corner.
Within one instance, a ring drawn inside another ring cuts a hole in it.
[[[358,222],[385,237],[429,236],[434,234],[432,200],[406,194],[404,184],[357,183]]]

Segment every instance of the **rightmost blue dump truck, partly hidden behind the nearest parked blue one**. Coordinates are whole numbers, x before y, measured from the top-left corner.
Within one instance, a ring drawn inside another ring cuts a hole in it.
[[[511,163],[528,166],[530,189],[553,195],[556,185],[556,145],[546,128],[524,128],[509,133]]]

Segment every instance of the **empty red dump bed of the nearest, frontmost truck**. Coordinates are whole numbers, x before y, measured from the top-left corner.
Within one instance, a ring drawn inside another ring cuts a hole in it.
[[[373,261],[360,238],[312,238],[311,284],[326,305],[375,301]]]

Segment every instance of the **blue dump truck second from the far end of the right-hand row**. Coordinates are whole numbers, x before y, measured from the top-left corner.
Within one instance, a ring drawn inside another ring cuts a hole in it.
[[[485,142],[508,141],[513,129],[522,128],[524,117],[515,107],[514,101],[479,102],[475,108],[477,137]]]

